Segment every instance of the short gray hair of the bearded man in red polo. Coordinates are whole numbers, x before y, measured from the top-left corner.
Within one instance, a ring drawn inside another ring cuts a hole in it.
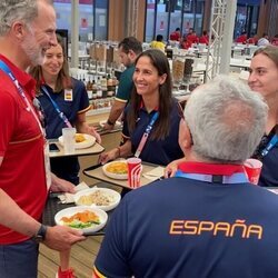
[[[1,0],[0,36],[4,36],[16,20],[31,23],[38,16],[38,2],[42,0]],[[44,2],[52,3],[51,0]]]

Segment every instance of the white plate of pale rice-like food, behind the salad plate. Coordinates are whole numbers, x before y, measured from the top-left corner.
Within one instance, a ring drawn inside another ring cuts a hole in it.
[[[91,206],[109,211],[119,205],[121,196],[112,189],[95,187],[78,191],[73,199],[77,206]]]

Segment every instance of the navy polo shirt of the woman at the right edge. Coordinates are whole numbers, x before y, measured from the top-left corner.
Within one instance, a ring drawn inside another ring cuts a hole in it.
[[[278,187],[278,145],[276,145],[267,156],[260,156],[261,150],[266,148],[276,132],[276,128],[269,132],[268,136],[264,136],[261,141],[254,153],[254,158],[260,159],[262,162],[262,169],[258,185],[262,187]]]

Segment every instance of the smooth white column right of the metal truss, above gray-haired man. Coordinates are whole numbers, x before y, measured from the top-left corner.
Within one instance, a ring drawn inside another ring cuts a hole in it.
[[[224,23],[224,36],[221,41],[222,46],[220,52],[221,60],[219,67],[219,73],[224,75],[228,75],[230,71],[230,56],[237,11],[237,0],[227,0],[226,4],[227,6]]]

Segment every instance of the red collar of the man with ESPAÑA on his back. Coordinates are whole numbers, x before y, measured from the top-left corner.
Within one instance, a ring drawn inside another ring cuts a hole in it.
[[[245,172],[242,165],[216,165],[192,161],[180,163],[178,169],[182,172],[224,176],[230,176],[236,172]]]

